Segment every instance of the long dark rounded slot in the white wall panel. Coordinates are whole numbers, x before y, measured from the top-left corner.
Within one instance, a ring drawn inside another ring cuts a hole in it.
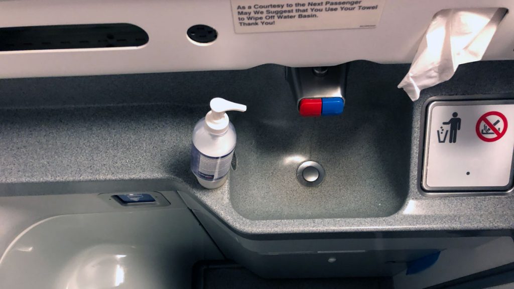
[[[148,34],[133,24],[80,24],[0,28],[0,51],[137,47]]]

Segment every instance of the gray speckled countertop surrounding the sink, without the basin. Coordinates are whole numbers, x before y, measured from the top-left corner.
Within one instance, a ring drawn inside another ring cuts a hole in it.
[[[412,104],[408,192],[405,203],[389,216],[264,220],[259,214],[243,216],[234,208],[230,194],[236,192],[230,191],[234,184],[230,179],[215,190],[196,183],[189,171],[191,132],[208,111],[210,98],[246,103],[248,118],[253,119],[262,113],[280,123],[281,116],[296,114],[284,68],[277,65],[244,71],[0,80],[4,94],[0,100],[0,193],[82,193],[92,189],[74,190],[62,184],[96,182],[98,188],[102,182],[162,181],[191,194],[233,230],[246,235],[512,230],[514,195],[427,197],[418,191],[417,171],[424,102],[432,96],[512,93],[513,66],[508,61],[463,65],[452,80],[427,89]],[[370,87],[364,92],[376,95],[378,102],[380,94],[408,98],[396,88],[408,67],[354,62],[348,85]],[[252,113],[253,107],[262,112]],[[245,125],[243,115],[230,116],[236,130],[238,123]],[[252,132],[238,131],[238,143],[254,137]],[[266,162],[265,154],[262,158]],[[60,189],[52,184],[61,184]],[[31,185],[41,189],[29,189]]]

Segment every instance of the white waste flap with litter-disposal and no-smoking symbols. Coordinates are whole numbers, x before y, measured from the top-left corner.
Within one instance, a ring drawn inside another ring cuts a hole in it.
[[[514,148],[514,104],[508,103],[435,102],[429,107],[426,189],[508,188]]]

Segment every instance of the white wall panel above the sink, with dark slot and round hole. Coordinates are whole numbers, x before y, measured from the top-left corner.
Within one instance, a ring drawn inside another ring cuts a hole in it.
[[[140,48],[0,52],[0,78],[245,69],[264,63],[335,65],[365,59],[410,63],[439,10],[505,7],[511,0],[388,0],[376,28],[236,34],[230,0],[0,1],[0,26],[132,23],[148,32]],[[218,31],[207,46],[188,41],[187,29]],[[485,60],[514,59],[514,15],[508,13]]]

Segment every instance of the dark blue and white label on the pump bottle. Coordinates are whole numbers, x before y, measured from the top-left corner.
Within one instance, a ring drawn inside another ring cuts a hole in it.
[[[224,156],[208,156],[191,145],[191,171],[201,179],[221,179],[230,170],[233,154],[234,150]]]

